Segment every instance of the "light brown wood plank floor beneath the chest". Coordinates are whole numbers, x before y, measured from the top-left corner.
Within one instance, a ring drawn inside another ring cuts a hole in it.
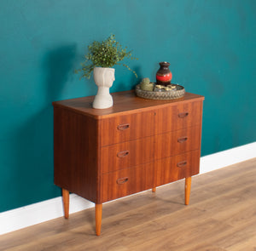
[[[256,158],[0,236],[0,250],[256,250]]]

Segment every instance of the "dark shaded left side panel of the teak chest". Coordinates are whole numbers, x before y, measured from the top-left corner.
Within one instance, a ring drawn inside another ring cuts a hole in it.
[[[55,185],[97,203],[96,121],[55,107],[54,123]]]

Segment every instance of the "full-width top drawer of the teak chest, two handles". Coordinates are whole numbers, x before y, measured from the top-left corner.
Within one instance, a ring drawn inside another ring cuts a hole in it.
[[[170,106],[152,107],[150,111],[104,118],[100,123],[100,144],[113,145],[137,140],[154,134],[163,134],[201,123],[201,104],[196,102],[170,103]],[[108,133],[107,133],[108,132]]]

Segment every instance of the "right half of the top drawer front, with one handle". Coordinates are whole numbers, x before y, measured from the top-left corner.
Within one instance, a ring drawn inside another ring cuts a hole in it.
[[[167,106],[155,111],[155,134],[189,128],[201,123],[202,101]]]

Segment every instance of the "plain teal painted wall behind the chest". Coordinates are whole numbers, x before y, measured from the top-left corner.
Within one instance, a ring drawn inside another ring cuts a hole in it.
[[[79,81],[85,45],[114,33],[139,78],[171,63],[173,83],[205,95],[202,156],[256,141],[252,0],[8,0],[0,3],[0,212],[60,196],[53,100],[96,94]],[[134,87],[116,67],[111,92]]]

